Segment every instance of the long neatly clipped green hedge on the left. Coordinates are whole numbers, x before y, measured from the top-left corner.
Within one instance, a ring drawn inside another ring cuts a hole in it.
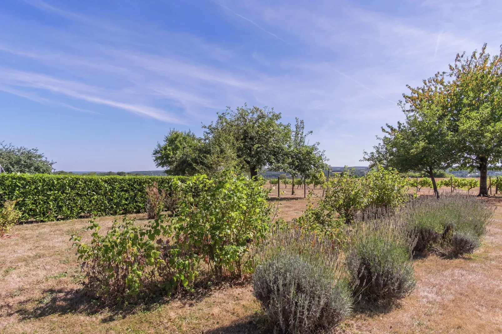
[[[184,177],[0,174],[0,202],[17,200],[20,221],[75,219],[145,212],[145,186],[170,189]]]

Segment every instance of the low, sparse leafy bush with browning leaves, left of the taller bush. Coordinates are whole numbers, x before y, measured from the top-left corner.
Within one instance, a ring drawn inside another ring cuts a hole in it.
[[[143,227],[134,220],[115,220],[105,235],[90,221],[90,245],[72,236],[86,275],[84,286],[104,303],[132,302],[155,293],[190,288],[197,276],[198,256],[170,238],[172,230],[161,215]]]

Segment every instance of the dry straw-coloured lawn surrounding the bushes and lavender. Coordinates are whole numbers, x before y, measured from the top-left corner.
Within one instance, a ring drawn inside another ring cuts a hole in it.
[[[388,312],[355,313],[337,332],[502,333],[502,197],[489,201],[498,208],[479,250],[463,259],[415,260],[417,288],[411,296]],[[290,220],[301,215],[307,202],[299,189],[280,203],[280,216]],[[146,222],[145,215],[137,218]],[[112,219],[97,221],[105,230]],[[149,311],[92,313],[78,293],[78,264],[68,241],[86,226],[87,220],[20,225],[0,240],[0,332],[267,332],[249,284],[215,290],[198,300],[153,305]]]

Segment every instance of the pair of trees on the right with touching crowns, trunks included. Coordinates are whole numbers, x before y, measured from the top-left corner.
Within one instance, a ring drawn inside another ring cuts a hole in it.
[[[400,102],[406,120],[387,125],[387,135],[373,152],[364,152],[364,160],[426,172],[436,194],[435,171],[477,169],[479,196],[487,196],[487,170],[500,170],[502,162],[502,47],[494,57],[486,44],[470,57],[457,54],[448,73],[407,87],[410,93]]]

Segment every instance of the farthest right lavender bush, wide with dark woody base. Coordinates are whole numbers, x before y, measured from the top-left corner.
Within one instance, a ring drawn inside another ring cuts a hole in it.
[[[473,196],[443,194],[439,199],[419,197],[402,208],[409,234],[417,239],[414,252],[429,250],[457,257],[472,253],[493,213],[492,206]]]

